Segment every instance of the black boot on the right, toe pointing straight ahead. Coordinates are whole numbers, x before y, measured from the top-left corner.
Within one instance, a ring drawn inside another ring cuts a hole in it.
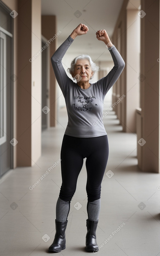
[[[86,220],[87,234],[86,234],[86,251],[98,251],[96,242],[96,229],[98,220]]]

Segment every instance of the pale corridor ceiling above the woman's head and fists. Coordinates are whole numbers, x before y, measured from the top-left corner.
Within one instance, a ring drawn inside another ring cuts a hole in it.
[[[41,0],[41,13],[56,15],[56,31],[62,31],[58,36],[58,46],[80,23],[87,25],[87,34],[77,36],[67,53],[75,57],[89,54],[93,61],[104,61],[112,60],[112,57],[105,43],[96,38],[96,32],[105,29],[112,40],[122,3],[123,0]]]

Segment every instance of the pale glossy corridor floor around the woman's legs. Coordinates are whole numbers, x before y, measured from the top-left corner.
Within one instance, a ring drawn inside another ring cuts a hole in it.
[[[106,102],[104,111],[108,107],[109,102]],[[60,111],[58,121],[56,128],[43,132],[42,156],[35,166],[18,167],[0,181],[1,256],[46,255],[53,242],[55,205],[61,186],[60,149],[67,125],[65,108]],[[101,190],[97,228],[99,251],[92,254],[160,256],[160,190],[157,189],[160,174],[139,170],[136,134],[122,132],[114,111],[103,121],[109,140],[109,159]],[[107,176],[107,172],[111,175]],[[33,188],[40,177],[40,182]],[[87,254],[85,185],[84,160],[71,201],[66,249],[59,255]],[[75,204],[82,207],[77,210]]]

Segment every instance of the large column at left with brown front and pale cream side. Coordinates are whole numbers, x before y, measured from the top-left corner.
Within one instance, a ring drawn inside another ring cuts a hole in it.
[[[17,166],[41,156],[41,5],[18,0]],[[40,54],[39,54],[40,55]]]

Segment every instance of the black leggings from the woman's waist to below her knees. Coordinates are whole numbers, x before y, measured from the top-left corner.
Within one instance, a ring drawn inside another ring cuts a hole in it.
[[[64,134],[61,147],[62,186],[59,197],[71,201],[77,185],[78,175],[86,157],[88,202],[100,199],[101,182],[108,161],[107,135],[79,138]]]

